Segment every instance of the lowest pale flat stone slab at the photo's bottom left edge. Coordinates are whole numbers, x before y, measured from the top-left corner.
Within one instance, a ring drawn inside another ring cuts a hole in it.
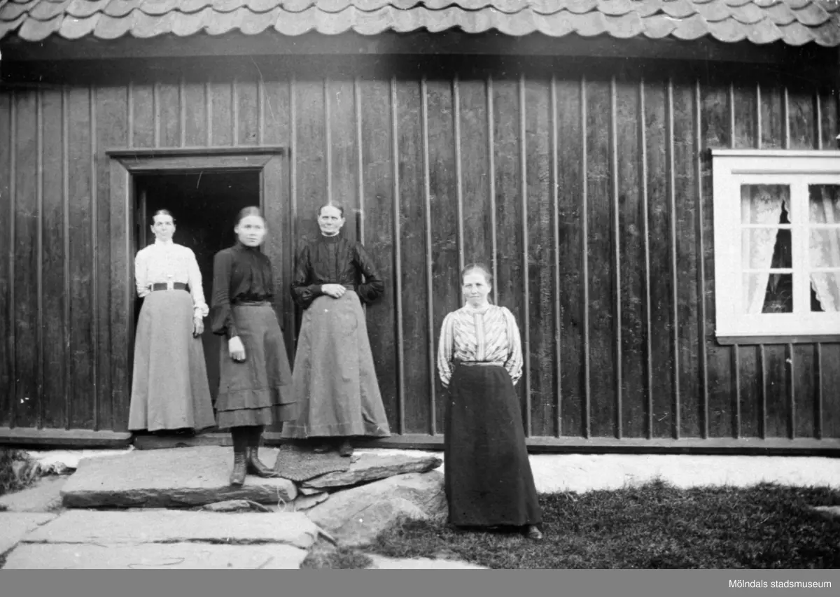
[[[68,545],[24,543],[4,569],[297,569],[307,551],[289,545]]]

